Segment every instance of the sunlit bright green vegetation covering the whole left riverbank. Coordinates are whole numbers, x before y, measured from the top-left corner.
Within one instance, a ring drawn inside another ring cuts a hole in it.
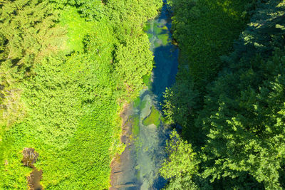
[[[153,66],[142,28],[161,6],[0,1],[0,189],[110,186],[119,112]]]

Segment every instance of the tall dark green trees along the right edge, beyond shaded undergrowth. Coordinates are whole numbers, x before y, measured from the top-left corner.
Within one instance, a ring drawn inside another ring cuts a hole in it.
[[[285,51],[280,38],[285,34],[281,19],[285,6],[282,1],[269,1],[259,10],[237,43],[244,47],[239,45],[224,57],[232,70],[209,89],[197,123],[208,133],[204,152],[211,150],[212,155],[207,162],[215,162],[211,167],[207,164],[205,176],[234,178],[247,171],[266,189],[281,189]],[[221,146],[223,142],[227,144]]]

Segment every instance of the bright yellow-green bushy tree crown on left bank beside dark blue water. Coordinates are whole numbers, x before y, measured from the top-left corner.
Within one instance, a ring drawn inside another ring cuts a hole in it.
[[[133,94],[130,96],[132,99],[138,95],[138,89],[143,87],[142,78],[138,78],[138,75],[150,73],[152,60],[152,52],[149,50],[149,41],[145,34],[130,38],[125,45],[118,45],[114,63],[118,87],[127,89],[130,95]],[[131,64],[132,67],[129,66]]]

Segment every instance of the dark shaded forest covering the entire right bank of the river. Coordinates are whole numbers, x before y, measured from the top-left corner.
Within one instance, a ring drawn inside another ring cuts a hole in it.
[[[182,132],[166,189],[285,189],[285,1],[168,3],[180,65],[163,107]]]

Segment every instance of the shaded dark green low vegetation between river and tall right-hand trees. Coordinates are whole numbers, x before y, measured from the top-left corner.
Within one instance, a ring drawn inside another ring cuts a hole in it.
[[[174,13],[172,31],[180,47],[180,65],[177,82],[165,95],[164,111],[170,123],[182,125],[182,136],[192,143],[204,143],[205,134],[201,126],[195,126],[195,118],[203,108],[207,85],[224,65],[220,57],[232,50],[233,41],[248,21],[252,2],[168,1]]]

